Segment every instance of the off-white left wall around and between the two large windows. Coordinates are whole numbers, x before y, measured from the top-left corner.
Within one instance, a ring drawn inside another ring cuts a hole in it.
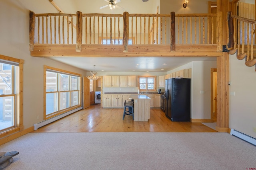
[[[0,54],[24,59],[23,122],[26,129],[43,120],[44,65],[76,72],[82,76],[86,72],[47,58],[30,56],[29,11],[22,8],[16,0],[1,0],[0,25]]]

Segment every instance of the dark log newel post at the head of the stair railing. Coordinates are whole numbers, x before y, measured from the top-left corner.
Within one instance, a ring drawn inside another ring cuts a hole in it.
[[[227,33],[228,33],[228,40],[227,40],[227,49],[233,49],[234,48],[234,25],[233,20],[231,17],[231,11],[227,13],[228,16],[228,22],[227,22]]]

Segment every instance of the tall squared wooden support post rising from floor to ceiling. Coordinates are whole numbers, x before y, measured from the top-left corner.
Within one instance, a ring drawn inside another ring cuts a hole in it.
[[[227,28],[226,13],[228,12],[229,0],[217,0],[218,36],[217,50],[222,51],[222,45],[226,44]],[[223,16],[224,15],[224,16]],[[229,54],[222,52],[217,57],[217,125],[219,132],[228,132],[229,128]]]

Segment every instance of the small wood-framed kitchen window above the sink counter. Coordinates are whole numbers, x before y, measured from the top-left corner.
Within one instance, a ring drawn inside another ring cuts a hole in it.
[[[156,76],[138,76],[140,92],[156,91]]]

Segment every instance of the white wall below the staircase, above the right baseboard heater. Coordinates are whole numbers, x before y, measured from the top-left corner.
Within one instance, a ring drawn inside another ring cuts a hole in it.
[[[256,72],[230,55],[229,127],[256,138]]]

